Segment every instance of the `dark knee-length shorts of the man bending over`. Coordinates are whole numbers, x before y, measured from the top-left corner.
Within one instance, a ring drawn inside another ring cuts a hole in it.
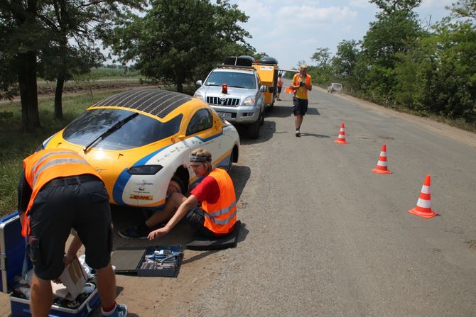
[[[85,245],[87,265],[101,269],[109,264],[111,211],[109,195],[99,179],[56,187],[46,184],[36,196],[30,215],[30,257],[40,279],[57,279],[63,272],[71,228]]]

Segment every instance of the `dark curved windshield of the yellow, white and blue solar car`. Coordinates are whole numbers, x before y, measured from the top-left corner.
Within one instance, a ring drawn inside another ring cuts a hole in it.
[[[78,145],[104,150],[127,150],[162,140],[178,132],[182,115],[162,123],[149,116],[120,109],[91,109],[75,118],[63,131],[63,138]],[[127,119],[124,125],[106,133],[118,122]]]

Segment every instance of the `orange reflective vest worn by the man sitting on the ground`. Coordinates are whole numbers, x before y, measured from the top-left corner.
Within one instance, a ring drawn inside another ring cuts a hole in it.
[[[237,198],[234,194],[232,179],[225,169],[215,168],[208,174],[213,177],[220,188],[220,198],[215,204],[202,202],[205,211],[203,226],[214,233],[230,233],[237,222]]]

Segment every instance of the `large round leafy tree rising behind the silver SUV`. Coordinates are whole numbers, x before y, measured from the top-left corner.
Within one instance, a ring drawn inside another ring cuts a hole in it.
[[[221,62],[225,55],[251,55],[247,16],[228,1],[154,0],[144,18],[118,21],[112,45],[121,62],[136,61],[146,77],[183,84]],[[229,54],[232,52],[232,54]],[[195,78],[196,79],[196,78]]]

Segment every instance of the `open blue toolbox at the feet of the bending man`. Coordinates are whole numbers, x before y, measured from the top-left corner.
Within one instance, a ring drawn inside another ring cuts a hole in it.
[[[18,212],[0,218],[0,286],[1,291],[10,294],[11,317],[29,317],[30,288],[21,278],[25,258],[25,238],[21,236]],[[28,259],[28,270],[33,265]],[[94,279],[90,279],[82,294],[75,300],[54,296],[50,317],[85,317],[99,304]]]

